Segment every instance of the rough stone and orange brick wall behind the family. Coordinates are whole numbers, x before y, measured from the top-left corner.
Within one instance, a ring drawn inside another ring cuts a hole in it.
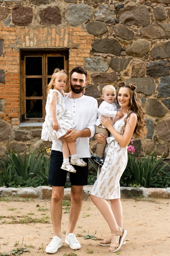
[[[20,128],[20,49],[69,49],[69,71],[88,71],[86,94],[137,84],[148,135],[137,153],[170,158],[170,0],[0,1],[0,154],[50,147],[41,128]],[[91,141],[95,144],[94,141]]]

